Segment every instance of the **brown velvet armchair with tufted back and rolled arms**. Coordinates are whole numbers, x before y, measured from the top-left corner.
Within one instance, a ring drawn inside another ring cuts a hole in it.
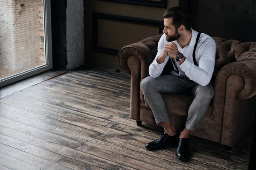
[[[157,125],[151,109],[140,91],[140,82],[148,75],[162,34],[148,37],[119,51],[119,67],[131,74],[131,119]],[[192,136],[232,147],[253,122],[256,113],[256,42],[240,42],[213,37],[216,42],[215,70],[212,80],[214,98]],[[171,71],[171,60],[162,74]],[[185,126],[192,96],[162,94],[172,124],[177,130]]]

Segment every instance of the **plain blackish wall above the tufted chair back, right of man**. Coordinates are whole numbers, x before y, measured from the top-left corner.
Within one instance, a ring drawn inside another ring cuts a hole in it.
[[[192,28],[211,37],[256,41],[256,0],[189,0]]]

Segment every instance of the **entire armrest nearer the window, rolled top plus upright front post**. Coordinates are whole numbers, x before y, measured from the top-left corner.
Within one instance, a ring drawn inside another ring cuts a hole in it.
[[[161,34],[127,45],[118,54],[119,67],[131,74],[130,118],[137,121],[140,121],[140,101],[144,101],[140,82],[148,76],[148,68],[157,54],[160,37]]]

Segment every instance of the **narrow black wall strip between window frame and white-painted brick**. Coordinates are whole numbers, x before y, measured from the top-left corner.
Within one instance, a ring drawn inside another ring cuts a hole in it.
[[[51,0],[53,69],[67,66],[67,0]]]

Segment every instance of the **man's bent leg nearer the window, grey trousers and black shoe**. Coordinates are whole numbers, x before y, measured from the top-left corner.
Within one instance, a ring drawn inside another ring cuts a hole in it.
[[[151,108],[157,123],[161,123],[165,130],[163,136],[157,141],[152,141],[145,145],[146,148],[157,150],[170,140],[175,142],[176,131],[170,122],[168,112],[163,97],[160,93],[185,94],[186,88],[179,78],[172,75],[164,75],[157,78],[146,77],[140,83],[140,88],[144,94],[149,107]],[[175,136],[175,138],[172,138]],[[149,148],[150,147],[150,148]]]

